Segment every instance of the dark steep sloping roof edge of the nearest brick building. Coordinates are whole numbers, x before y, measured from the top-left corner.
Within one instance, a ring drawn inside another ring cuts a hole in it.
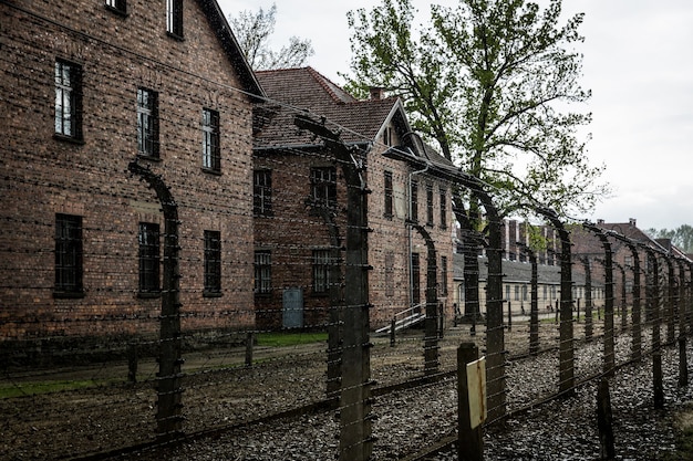
[[[197,0],[203,12],[209,21],[209,25],[215,31],[217,38],[221,42],[221,46],[226,52],[227,57],[238,72],[238,77],[242,83],[242,90],[251,95],[263,96],[265,92],[260,86],[260,83],[256,78],[246,54],[240,49],[236,35],[231,31],[231,28],[219,8],[219,3],[216,0]]]

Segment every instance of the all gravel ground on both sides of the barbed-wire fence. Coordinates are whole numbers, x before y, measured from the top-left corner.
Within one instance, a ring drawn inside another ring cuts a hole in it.
[[[527,329],[515,325],[506,333],[510,357],[527,350]],[[542,325],[542,345],[556,344],[557,329],[555,325]],[[576,324],[576,337],[580,335],[581,326]],[[483,350],[483,328],[474,337],[468,327],[449,329],[441,343],[442,369],[454,369],[461,342],[475,340]],[[394,348],[389,347],[386,338],[374,338],[374,343],[372,376],[379,386],[421,376],[421,333],[401,337]],[[578,378],[601,369],[600,342],[576,345]],[[616,349],[617,362],[623,362],[630,353],[630,338],[621,336]],[[242,363],[242,352],[237,358],[231,357],[234,354],[223,355],[187,357],[184,415],[188,433],[242,425],[324,396],[324,345],[296,347],[281,354],[259,349],[258,365],[252,368],[234,365],[234,360]],[[687,388],[676,387],[678,355],[666,350],[663,358],[664,411],[652,410],[649,362],[622,368],[611,380],[619,459],[652,460],[658,452],[673,447],[672,413],[693,396]],[[74,373],[66,377],[74,379]],[[102,375],[122,373],[111,367],[100,370]],[[510,358],[506,374],[508,410],[513,411],[555,392],[558,354],[554,350],[538,357]],[[573,398],[532,408],[504,425],[487,428],[486,459],[597,459],[594,397],[594,385],[588,385]],[[152,381],[0,400],[0,460],[64,459],[146,442],[154,433],[155,401]],[[394,460],[417,452],[435,440],[456,434],[456,380],[448,378],[377,397],[372,413],[377,418],[373,422],[373,460]],[[338,437],[339,417],[329,411],[241,426],[215,437],[175,447],[158,446],[120,459],[331,460],[337,459]],[[430,459],[455,458],[448,452]]]

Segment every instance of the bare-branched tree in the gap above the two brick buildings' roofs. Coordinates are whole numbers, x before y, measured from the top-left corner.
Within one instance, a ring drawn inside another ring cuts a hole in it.
[[[238,18],[229,15],[229,21],[248,63],[256,71],[299,67],[314,54],[310,40],[298,36],[291,36],[289,44],[278,52],[269,48],[269,39],[275,33],[277,23],[276,3],[268,11],[262,8],[257,12],[244,10]]]

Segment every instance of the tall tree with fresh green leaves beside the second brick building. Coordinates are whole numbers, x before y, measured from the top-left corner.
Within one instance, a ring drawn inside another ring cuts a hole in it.
[[[418,30],[411,0],[351,11],[346,87],[401,96],[413,127],[486,184],[501,216],[527,205],[560,217],[588,211],[608,188],[578,138],[591,114],[570,111],[590,97],[578,84],[582,56],[568,50],[582,41],[583,15],[559,25],[560,11],[561,0],[544,11],[526,0],[459,0],[455,9],[432,6]],[[465,266],[477,266],[486,224],[478,198],[461,189],[453,200]],[[477,302],[477,286],[465,274],[467,303]]]

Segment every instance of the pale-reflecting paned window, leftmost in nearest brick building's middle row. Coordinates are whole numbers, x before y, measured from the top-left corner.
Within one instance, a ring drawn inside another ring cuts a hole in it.
[[[55,134],[82,139],[82,67],[55,61]]]

